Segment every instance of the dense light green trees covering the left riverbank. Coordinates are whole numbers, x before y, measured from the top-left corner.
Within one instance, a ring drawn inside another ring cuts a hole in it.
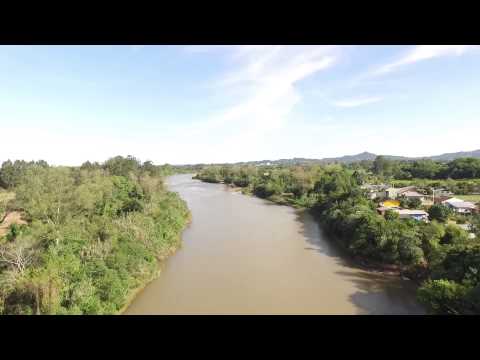
[[[173,171],[130,156],[4,162],[0,220],[18,213],[22,224],[0,234],[0,314],[121,311],[180,244],[189,212],[163,185]]]

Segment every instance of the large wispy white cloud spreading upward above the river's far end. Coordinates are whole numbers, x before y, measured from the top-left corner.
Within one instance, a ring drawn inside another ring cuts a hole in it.
[[[194,51],[215,50],[218,48]],[[211,138],[214,133],[216,137],[208,148],[203,143],[200,146],[204,154],[209,152],[216,161],[227,159],[222,156],[232,160],[265,154],[267,135],[285,125],[302,100],[298,83],[332,67],[341,52],[334,46],[231,46],[223,50],[229,69],[213,82],[210,90],[234,93],[237,101],[181,131],[192,142]]]

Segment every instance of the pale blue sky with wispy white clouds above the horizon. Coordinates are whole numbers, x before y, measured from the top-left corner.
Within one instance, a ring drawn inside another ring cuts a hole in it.
[[[479,46],[0,46],[0,161],[430,156],[479,134]]]

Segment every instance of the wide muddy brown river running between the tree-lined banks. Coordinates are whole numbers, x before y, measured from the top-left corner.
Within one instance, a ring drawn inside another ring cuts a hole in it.
[[[354,267],[305,211],[191,175],[192,222],[125,314],[422,314],[408,280]]]

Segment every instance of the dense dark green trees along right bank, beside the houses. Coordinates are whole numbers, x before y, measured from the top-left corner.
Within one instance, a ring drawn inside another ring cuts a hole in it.
[[[453,169],[466,163],[474,162],[459,159],[442,165],[442,169],[455,173]],[[385,180],[382,164],[380,158],[370,165],[209,166],[197,178],[241,187],[244,193],[278,203],[309,208],[331,238],[352,256],[397,265],[404,274],[421,282],[418,298],[431,312],[479,314],[479,216],[470,219],[477,235],[471,239],[462,228],[447,223],[452,214],[443,206],[430,209],[433,220],[429,223],[400,220],[394,212],[379,215],[375,210],[378,205],[366,196],[361,185]],[[395,166],[405,170],[423,165]],[[476,176],[473,170],[465,171]]]

